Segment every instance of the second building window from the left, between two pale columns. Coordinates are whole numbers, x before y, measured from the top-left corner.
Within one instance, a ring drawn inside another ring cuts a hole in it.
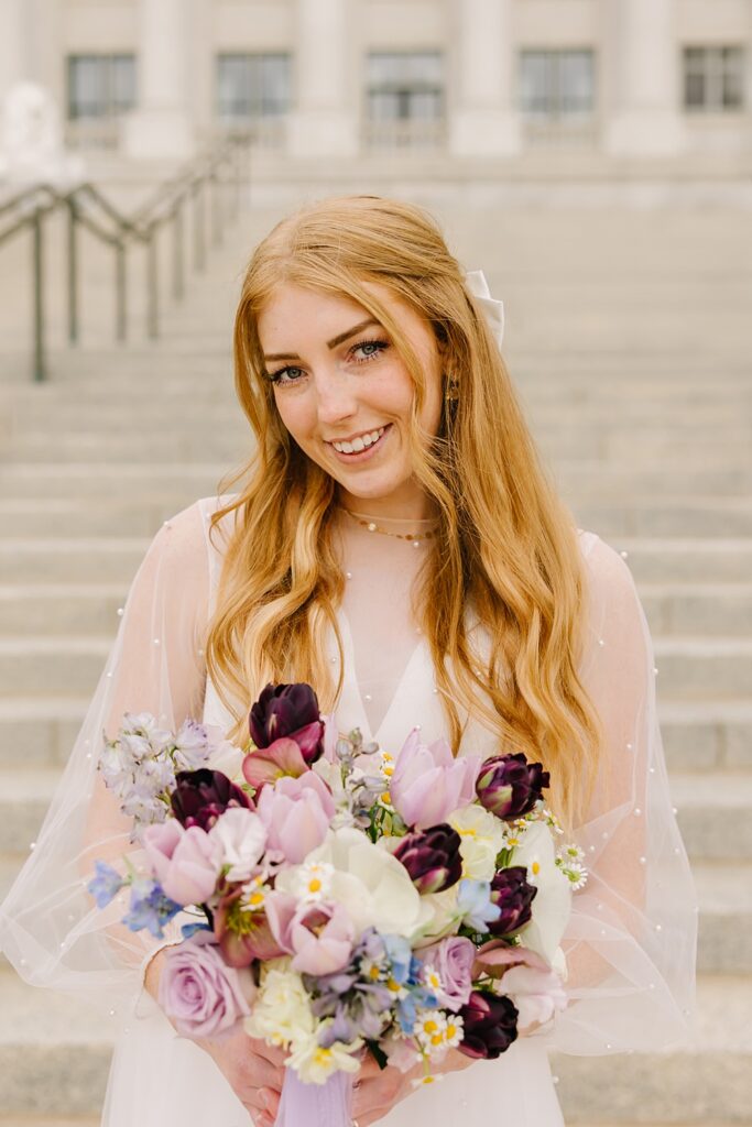
[[[290,109],[290,55],[218,55],[216,109],[224,122],[284,116]]]

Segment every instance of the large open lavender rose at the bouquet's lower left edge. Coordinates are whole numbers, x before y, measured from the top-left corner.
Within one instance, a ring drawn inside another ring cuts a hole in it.
[[[167,949],[159,1004],[183,1037],[227,1032],[248,1017],[254,992],[250,973],[228,967],[209,932]]]

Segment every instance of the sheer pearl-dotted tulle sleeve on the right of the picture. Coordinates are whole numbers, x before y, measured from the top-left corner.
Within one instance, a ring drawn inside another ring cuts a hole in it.
[[[631,573],[591,534],[581,675],[605,754],[575,833],[590,870],[565,942],[570,1003],[551,1047],[570,1054],[680,1040],[693,1009],[697,898],[672,807],[656,715],[657,669]]]

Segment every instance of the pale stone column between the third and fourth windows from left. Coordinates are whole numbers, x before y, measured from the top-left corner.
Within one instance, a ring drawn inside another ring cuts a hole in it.
[[[511,0],[458,0],[458,97],[450,106],[449,135],[459,157],[496,157],[520,148],[511,8]]]

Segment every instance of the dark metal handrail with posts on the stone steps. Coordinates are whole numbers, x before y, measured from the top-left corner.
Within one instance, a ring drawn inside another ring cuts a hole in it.
[[[125,215],[90,183],[61,192],[50,184],[38,184],[17,193],[0,204],[0,249],[19,231],[32,232],[32,282],[34,293],[34,362],[33,379],[47,379],[44,311],[44,220],[56,211],[68,214],[67,295],[68,339],[78,344],[79,313],[79,230],[83,229],[112,247],[115,252],[115,338],[127,336],[127,250],[133,245],[145,249],[147,335],[159,336],[159,263],[157,239],[168,224],[172,231],[171,294],[179,301],[185,295],[185,210],[189,205],[193,220],[193,266],[206,265],[206,197],[211,196],[212,241],[221,243],[227,220],[237,219],[241,181],[248,175],[249,139],[232,135],[210,153],[197,158],[176,176],[160,184],[153,195],[132,215]],[[228,177],[229,174],[229,177]],[[224,190],[229,185],[230,198]],[[5,228],[3,216],[14,220]],[[20,213],[20,214],[19,214]]]

